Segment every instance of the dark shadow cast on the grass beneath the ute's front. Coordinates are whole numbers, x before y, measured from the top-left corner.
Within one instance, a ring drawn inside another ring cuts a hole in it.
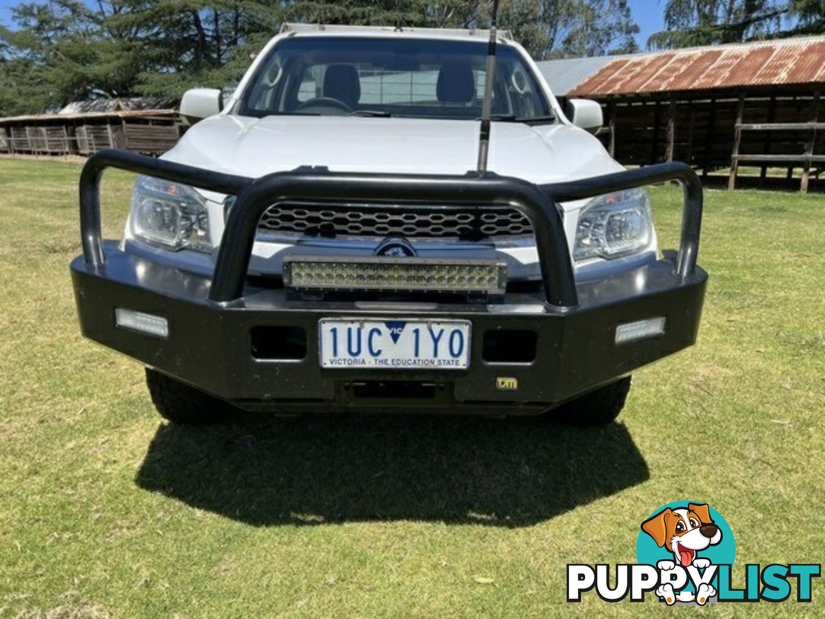
[[[639,484],[620,423],[544,418],[244,416],[158,427],[136,482],[256,526],[422,520],[523,527]]]

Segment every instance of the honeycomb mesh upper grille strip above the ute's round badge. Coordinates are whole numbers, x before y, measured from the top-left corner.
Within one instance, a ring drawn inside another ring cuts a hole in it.
[[[284,204],[263,214],[261,232],[290,232],[322,237],[403,236],[447,239],[532,234],[530,221],[507,207],[476,209],[463,206],[434,210],[410,206],[403,211],[380,206],[325,205],[320,210]]]

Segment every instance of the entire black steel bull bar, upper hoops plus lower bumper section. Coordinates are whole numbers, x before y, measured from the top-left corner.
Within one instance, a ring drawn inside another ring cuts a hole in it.
[[[101,239],[98,182],[107,167],[124,168],[224,193],[237,193],[211,278],[124,253]],[[676,180],[684,187],[681,246],[673,262],[660,260],[600,281],[577,284],[558,202]],[[701,188],[691,168],[662,164],[582,182],[536,186],[492,173],[464,177],[331,173],[318,168],[232,177],[140,155],[101,151],[83,169],[80,185],[83,255],[72,262],[82,333],[92,340],[247,409],[304,410],[365,406],[468,406],[532,412],[628,374],[695,342],[707,276],[695,266]],[[506,204],[529,219],[536,236],[543,287],[537,294],[507,293],[496,303],[312,301],[282,289],[252,286],[246,277],[257,222],[282,201],[392,201],[403,209],[422,202],[434,209],[457,203]],[[115,326],[115,309],[163,316],[168,338]],[[664,316],[657,338],[615,344],[619,324]],[[322,369],[318,321],[323,318],[466,319],[473,324],[466,371]],[[306,354],[293,361],[252,356],[252,329],[296,327]],[[538,338],[529,363],[484,361],[484,333],[531,330]],[[517,390],[499,388],[515,378]],[[381,380],[428,382],[438,395],[421,401],[362,400],[351,386]]]

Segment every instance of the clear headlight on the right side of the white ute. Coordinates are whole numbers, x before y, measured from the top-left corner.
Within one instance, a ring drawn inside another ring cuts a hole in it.
[[[648,192],[616,191],[593,198],[582,209],[573,258],[620,258],[648,247],[652,239]]]

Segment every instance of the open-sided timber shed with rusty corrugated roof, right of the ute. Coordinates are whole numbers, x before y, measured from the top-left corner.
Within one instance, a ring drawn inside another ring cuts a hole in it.
[[[600,102],[620,163],[684,161],[703,177],[825,171],[825,36],[539,63],[557,96]]]

